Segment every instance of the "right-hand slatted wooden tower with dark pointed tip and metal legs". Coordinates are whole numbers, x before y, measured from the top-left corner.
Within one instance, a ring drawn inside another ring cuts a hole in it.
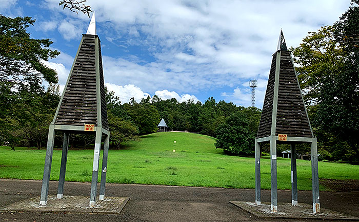
[[[281,30],[277,51],[273,54],[262,116],[255,139],[255,203],[261,205],[261,148],[270,142],[271,211],[277,211],[276,143],[291,145],[292,205],[297,206],[296,143],[311,144],[313,212],[320,212],[317,144],[313,136],[291,52]]]

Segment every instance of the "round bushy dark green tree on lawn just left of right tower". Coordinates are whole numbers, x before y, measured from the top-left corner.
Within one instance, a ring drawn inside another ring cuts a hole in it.
[[[254,151],[255,132],[249,130],[249,121],[243,112],[229,116],[215,131],[216,148],[231,155],[250,155]]]

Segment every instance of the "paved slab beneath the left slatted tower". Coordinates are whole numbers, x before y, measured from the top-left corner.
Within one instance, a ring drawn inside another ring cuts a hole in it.
[[[35,197],[4,206],[0,211],[119,214],[128,200],[128,197],[106,197],[104,200],[97,200],[94,207],[89,207],[89,196],[63,196],[62,199],[57,199],[57,196],[49,195],[46,206],[40,206],[40,197]]]

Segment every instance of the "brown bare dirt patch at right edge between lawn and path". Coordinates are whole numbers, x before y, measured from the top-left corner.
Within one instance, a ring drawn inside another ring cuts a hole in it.
[[[359,191],[359,180],[320,179],[319,183],[333,191]]]

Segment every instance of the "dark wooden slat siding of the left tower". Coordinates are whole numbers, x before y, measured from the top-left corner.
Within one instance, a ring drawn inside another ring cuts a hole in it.
[[[55,119],[58,125],[97,126],[95,41],[99,46],[102,125],[108,130],[101,46],[97,36],[83,35],[65,94]]]

